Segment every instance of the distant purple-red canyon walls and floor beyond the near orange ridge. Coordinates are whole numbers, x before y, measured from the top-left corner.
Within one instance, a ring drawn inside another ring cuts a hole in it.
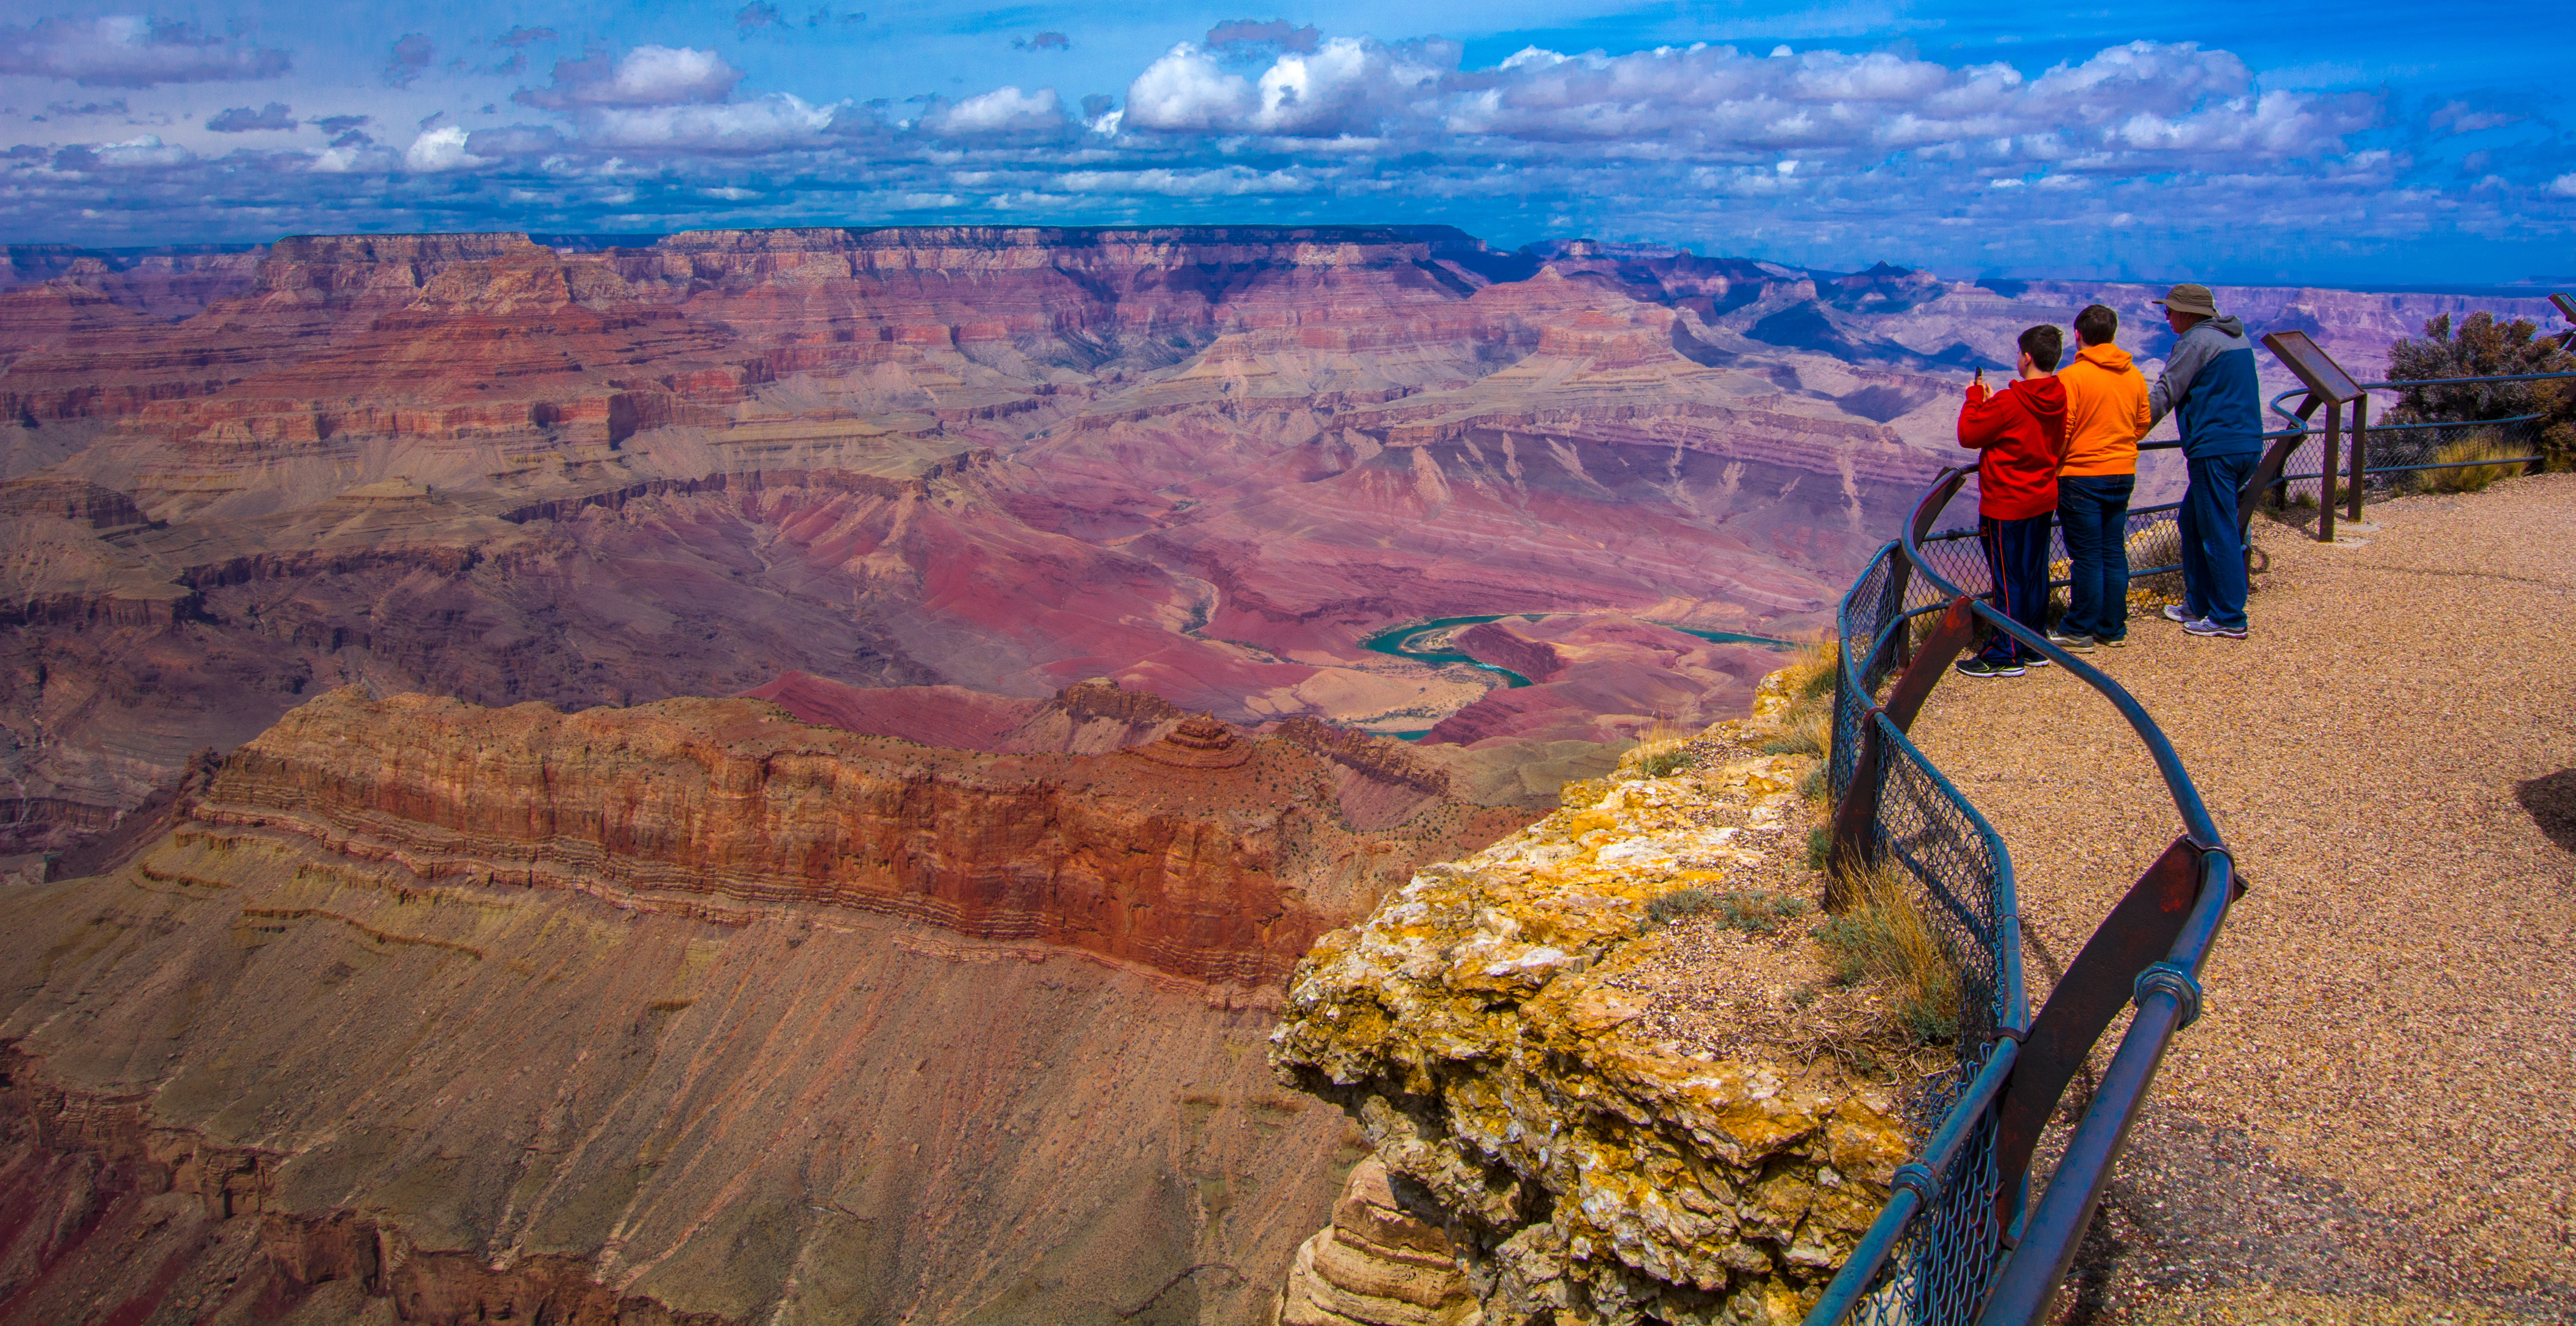
[[[0,250],[0,850],[350,682],[806,675],[999,731],[1108,677],[1430,731],[1528,793],[1741,705],[1765,654],[1674,628],[1819,628],[2020,327],[2105,299],[2169,342],[2143,286],[1443,227],[549,239]],[[2362,371],[2468,306],[2223,299]],[[1448,615],[1515,615],[1466,649],[1535,685],[1360,649]],[[902,721],[860,729],[958,744]]]

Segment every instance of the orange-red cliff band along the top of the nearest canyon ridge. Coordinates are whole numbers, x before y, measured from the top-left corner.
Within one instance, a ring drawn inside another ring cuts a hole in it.
[[[1401,785],[1440,824],[1381,845],[1342,819],[1342,770],[1211,718],[1126,754],[994,757],[814,729],[760,700],[564,716],[350,687],[234,752],[193,816],[425,881],[683,914],[853,906],[1262,984],[1453,821],[1510,821]]]

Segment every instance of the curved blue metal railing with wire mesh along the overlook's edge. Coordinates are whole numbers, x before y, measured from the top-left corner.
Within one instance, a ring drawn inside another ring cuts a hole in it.
[[[2267,461],[2280,456],[2275,440]],[[1968,474],[1942,471],[1904,538],[1870,559],[1837,610],[1842,659],[1826,765],[1832,857],[1844,878],[1873,870],[1904,883],[1958,966],[1960,1017],[1953,1063],[1904,1102],[1914,1125],[1929,1133],[1924,1148],[1896,1172],[1886,1210],[1808,1313],[1808,1326],[2022,1326],[2045,1311],[2166,1043],[2197,1017],[2200,963],[2239,893],[2218,826],[2146,708],[2120,682],[1978,600],[1968,584],[1986,579],[1984,559],[1929,538]],[[2269,476],[2280,476],[2277,463]],[[2246,484],[2241,515],[2264,481],[2257,471]],[[1976,556],[1973,577],[1968,556]],[[2084,945],[2038,1020],[2022,984],[2012,855],[1906,736],[1981,623],[2092,685],[2146,744],[2182,821],[2182,834]],[[1829,899],[1829,906],[1852,904],[1850,896]],[[2128,1004],[2138,1017],[2032,1205],[2030,1159],[2040,1130],[2094,1040]]]

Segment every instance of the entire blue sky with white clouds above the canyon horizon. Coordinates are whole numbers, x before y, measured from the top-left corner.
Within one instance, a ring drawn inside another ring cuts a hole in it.
[[[2576,275],[2576,21],[2424,13],[18,8],[0,242],[1445,221],[1955,275]]]

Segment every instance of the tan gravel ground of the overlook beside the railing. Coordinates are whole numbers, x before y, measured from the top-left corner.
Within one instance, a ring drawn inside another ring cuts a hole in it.
[[[2576,852],[2524,806],[2576,775],[2517,788],[2576,765],[2576,476],[2370,520],[2339,546],[2257,520],[2249,641],[2136,621],[2094,654],[2251,891],[2066,1321],[2576,1321]],[[1914,736],[2058,958],[2179,829],[2058,669],[1953,675]]]

